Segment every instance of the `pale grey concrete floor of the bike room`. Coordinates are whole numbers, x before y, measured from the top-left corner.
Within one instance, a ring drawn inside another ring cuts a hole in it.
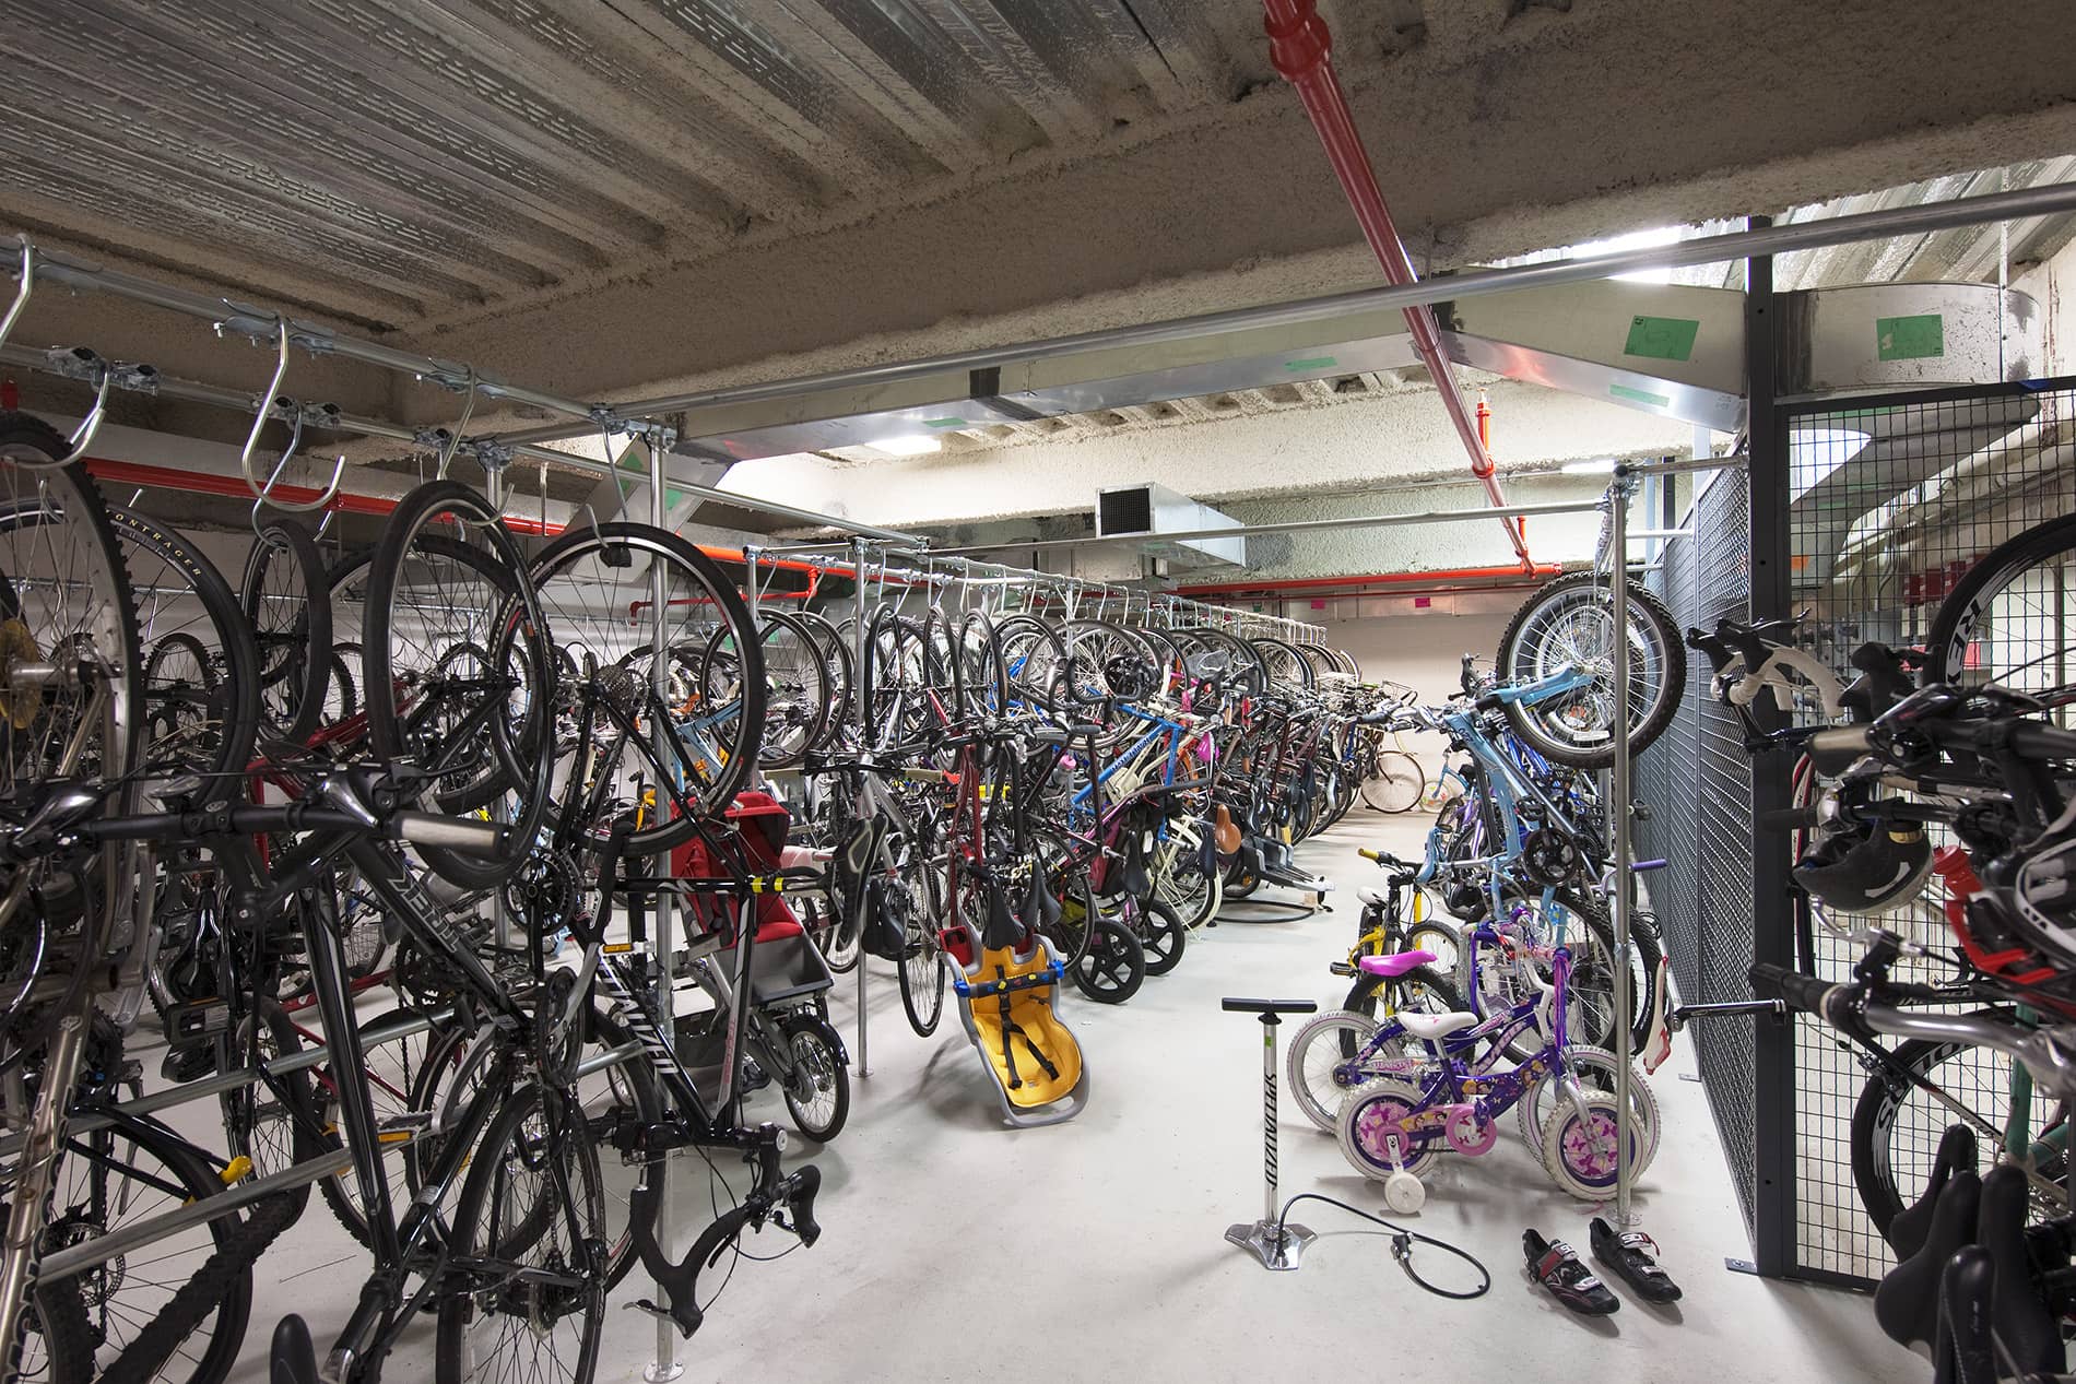
[[[1080,1120],[1038,1131],[996,1123],[980,1058],[949,1013],[918,1040],[893,973],[870,977],[872,1075],[855,1083],[849,1127],[814,1154],[824,1174],[820,1245],[776,1264],[741,1262],[702,1332],[681,1347],[685,1380],[1275,1380],[1327,1369],[1397,1378],[1825,1380],[1895,1382],[1929,1367],[1889,1345],[1864,1297],[1763,1282],[1723,1268],[1750,1253],[1702,1087],[1675,1054],[1652,1087],[1663,1147],[1638,1208],[1686,1286],[1677,1311],[1634,1301],[1601,1322],[1565,1313],[1522,1266],[1538,1226],[1586,1247],[1592,1208],[1559,1193],[1520,1147],[1513,1120],[1480,1160],[1451,1158],[1428,1179],[1416,1228],[1457,1241],[1493,1272],[1470,1303],[1414,1289],[1383,1233],[1329,1206],[1300,1216],[1320,1233],[1295,1274],[1262,1272],[1221,1237],[1260,1214],[1260,1035],[1219,996],[1306,996],[1335,1004],[1327,973],[1356,928],[1354,890],[1372,867],[1358,845],[1418,849],[1420,824],[1358,815],[1300,849],[1341,888],[1335,913],[1248,923],[1233,905],[1181,967],[1131,1004],[1069,1000],[1092,1073]],[[837,1021],[855,1046],[849,981]],[[1285,1029],[1289,1033],[1291,1029]],[[855,1058],[855,1050],[853,1050]],[[785,1118],[774,1098],[768,1118]],[[760,1106],[760,1112],[762,1106]],[[799,1150],[795,1141],[795,1150]],[[1329,1135],[1283,1106],[1283,1195],[1322,1191],[1383,1212]],[[702,1189],[693,1197],[702,1203]],[[695,1226],[693,1226],[695,1230]],[[772,1237],[768,1251],[785,1247]],[[764,1253],[754,1241],[752,1251]],[[1443,1284],[1466,1268],[1441,1251],[1416,1262]],[[303,1311],[322,1343],[345,1318],[361,1251],[311,1206],[262,1264],[237,1380],[264,1382],[274,1320]],[[637,1380],[654,1324],[606,1322],[602,1380]],[[702,1282],[702,1286],[706,1286]],[[388,1376],[432,1376],[432,1322]],[[1343,1363],[1345,1361],[1345,1363]],[[1360,1363],[1368,1361],[1368,1363]]]

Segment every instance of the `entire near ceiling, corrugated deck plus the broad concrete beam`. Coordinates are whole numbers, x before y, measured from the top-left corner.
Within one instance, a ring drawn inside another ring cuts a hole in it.
[[[1322,12],[1424,270],[2076,149],[2076,6],[2051,0]],[[0,224],[577,398],[1374,282],[1256,0],[0,0]],[[44,297],[17,340],[264,380],[110,301]],[[459,409],[336,361],[297,392]]]

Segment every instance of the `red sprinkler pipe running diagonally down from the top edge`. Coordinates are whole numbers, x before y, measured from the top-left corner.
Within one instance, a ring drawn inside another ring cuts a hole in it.
[[[1370,253],[1376,255],[1385,280],[1391,284],[1418,282],[1420,276],[1414,274],[1414,264],[1405,255],[1403,241],[1399,241],[1399,228],[1391,222],[1385,195],[1376,187],[1376,172],[1370,168],[1370,156],[1362,147],[1356,118],[1347,110],[1341,79],[1333,73],[1333,35],[1327,31],[1327,21],[1318,17],[1314,0],[1262,0],[1262,29],[1268,31],[1268,60],[1275,62],[1285,81],[1298,87],[1298,100],[1304,102],[1306,114],[1312,116],[1312,129],[1327,149],[1333,176],[1341,181],[1347,205],[1356,212],[1362,237],[1370,243]],[[1470,456],[1470,473],[1484,486],[1484,494],[1493,504],[1505,504],[1507,498],[1499,490],[1499,477],[1493,475],[1493,459],[1478,442],[1478,427],[1464,407],[1464,392],[1457,388],[1455,371],[1441,351],[1435,315],[1426,307],[1408,307],[1405,328],[1414,336],[1414,351],[1420,353],[1428,373],[1435,378],[1435,388],[1441,390],[1441,403],[1449,411],[1449,421],[1455,423],[1457,438],[1464,440],[1464,452]],[[1507,529],[1507,542],[1513,546],[1515,556],[1520,556],[1522,571],[1534,571],[1534,560],[1528,556],[1528,542],[1522,537],[1520,527],[1511,519],[1501,519],[1499,523]]]

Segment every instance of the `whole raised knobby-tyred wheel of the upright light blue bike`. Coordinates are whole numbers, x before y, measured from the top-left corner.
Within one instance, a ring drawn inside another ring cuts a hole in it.
[[[1507,701],[1513,732],[1545,759],[1601,770],[1615,759],[1615,656],[1613,612],[1607,583],[1594,573],[1545,581],[1513,612],[1499,637],[1495,660],[1501,683],[1534,683],[1567,668],[1592,683],[1536,705]],[[1686,643],[1671,610],[1657,596],[1628,583],[1630,602],[1630,753],[1663,735],[1686,691]]]

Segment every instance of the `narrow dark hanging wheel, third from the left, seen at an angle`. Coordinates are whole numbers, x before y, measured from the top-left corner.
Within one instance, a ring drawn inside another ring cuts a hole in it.
[[[260,714],[270,735],[301,743],[324,720],[332,679],[332,602],[318,544],[284,519],[260,529],[239,602],[260,652]]]

